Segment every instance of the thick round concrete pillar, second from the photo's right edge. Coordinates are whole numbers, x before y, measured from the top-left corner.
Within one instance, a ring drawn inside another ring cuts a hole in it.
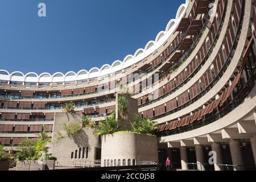
[[[243,166],[243,156],[239,140],[230,139],[229,142],[232,163],[234,166]],[[242,170],[241,167],[234,168],[235,171]]]

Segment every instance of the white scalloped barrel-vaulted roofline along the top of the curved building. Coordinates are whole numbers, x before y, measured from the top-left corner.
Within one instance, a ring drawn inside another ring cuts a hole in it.
[[[158,33],[158,35],[156,35],[156,39],[151,40],[150,42],[148,42],[146,44],[146,46],[144,48],[139,48],[137,49],[137,51],[135,51],[134,55],[127,55],[125,57],[125,59],[123,59],[123,61],[119,61],[116,60],[114,61],[111,65],[109,64],[105,64],[102,65],[101,68],[92,68],[90,69],[90,71],[86,71],[85,69],[82,69],[81,71],[75,73],[73,71],[67,72],[67,73],[60,73],[60,72],[56,72],[53,75],[51,75],[50,73],[41,73],[40,75],[34,73],[34,72],[30,72],[27,73],[26,75],[22,72],[13,72],[13,73],[9,73],[8,71],[4,70],[4,69],[0,69],[0,72],[5,72],[7,73],[7,75],[1,75],[0,74],[0,80],[6,80],[6,81],[20,81],[20,82],[24,82],[29,80],[29,82],[63,82],[63,81],[77,81],[77,80],[86,80],[88,78],[97,78],[97,77],[101,77],[101,76],[105,76],[105,75],[109,75],[109,73],[114,73],[117,71],[121,71],[122,69],[125,69],[127,67],[129,67],[130,65],[136,64],[139,61],[143,60],[145,57],[147,57],[148,55],[150,55],[152,52],[154,52],[156,49],[158,49],[160,46],[162,46],[162,44],[170,37],[170,35],[174,32],[174,30],[176,29],[177,25],[179,24],[181,17],[183,17],[185,10],[187,9],[189,4],[189,0],[186,0],[184,4],[180,5],[179,9],[177,10],[176,13],[176,18],[175,19],[171,19],[167,26],[166,26],[166,30],[165,31],[160,31]],[[181,10],[184,10],[183,12],[181,12]],[[179,16],[180,15],[180,16]],[[170,27],[171,23],[174,22],[174,25]],[[169,30],[170,29],[170,30]],[[163,35],[163,37],[161,39],[159,39],[160,35]],[[153,45],[148,48],[148,46],[153,43]],[[138,52],[143,51],[143,53],[138,54]],[[131,57],[131,59],[129,61],[126,61],[128,57]],[[117,65],[114,67],[114,65],[116,63],[121,63],[120,65]],[[104,67],[108,66],[108,69],[103,69]],[[92,71],[94,69],[97,69],[97,72],[92,73]],[[106,71],[108,70],[108,71]],[[82,74],[80,75],[81,72],[86,72],[86,74]],[[15,73],[20,73],[23,76],[13,76]],[[68,76],[69,73],[74,73],[75,75],[72,76]],[[55,77],[56,75],[63,75],[62,77]],[[35,75],[36,77],[29,77],[29,75]],[[43,75],[48,75],[49,77],[42,77]]]

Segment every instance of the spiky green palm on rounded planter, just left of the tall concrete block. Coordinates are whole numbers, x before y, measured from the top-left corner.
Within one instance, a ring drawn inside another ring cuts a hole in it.
[[[114,115],[106,117],[106,121],[100,122],[99,129],[96,132],[96,136],[113,134],[118,131],[117,120]]]

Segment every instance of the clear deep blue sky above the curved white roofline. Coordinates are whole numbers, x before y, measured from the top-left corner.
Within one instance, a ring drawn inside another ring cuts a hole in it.
[[[38,3],[47,17],[38,17]],[[0,69],[89,71],[144,48],[185,0],[1,0]]]

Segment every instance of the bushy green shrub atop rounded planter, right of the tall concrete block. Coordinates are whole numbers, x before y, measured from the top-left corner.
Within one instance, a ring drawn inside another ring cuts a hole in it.
[[[133,121],[134,131],[140,134],[153,134],[157,129],[156,122],[153,122],[151,119],[142,118],[138,114],[135,115]]]

